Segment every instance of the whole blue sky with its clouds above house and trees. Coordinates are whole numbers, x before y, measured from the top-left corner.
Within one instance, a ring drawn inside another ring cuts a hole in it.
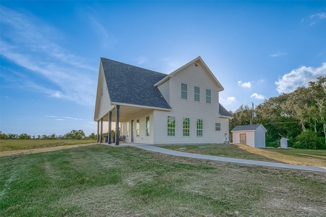
[[[326,2],[1,1],[4,133],[96,132],[100,57],[171,73],[201,56],[235,111],[326,75]]]

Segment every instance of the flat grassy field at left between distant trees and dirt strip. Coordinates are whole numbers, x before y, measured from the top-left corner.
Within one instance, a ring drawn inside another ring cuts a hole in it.
[[[0,151],[96,143],[96,140],[0,140]]]

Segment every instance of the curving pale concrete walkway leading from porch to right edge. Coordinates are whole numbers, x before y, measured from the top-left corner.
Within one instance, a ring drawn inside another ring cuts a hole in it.
[[[132,146],[132,147],[142,148],[148,151],[154,151],[154,152],[170,154],[175,156],[233,162],[236,164],[258,165],[264,167],[277,167],[277,168],[287,168],[287,169],[296,169],[296,170],[309,170],[315,172],[326,172],[326,168],[321,168],[321,167],[291,165],[291,164],[282,164],[277,162],[266,162],[266,161],[259,161],[259,160],[246,160],[246,159],[237,159],[237,158],[230,158],[230,157],[218,157],[218,156],[203,155],[203,154],[193,154],[193,153],[187,153],[181,151],[174,151],[165,148],[159,148],[152,145],[140,145],[140,144],[134,145],[132,143],[127,143],[127,144],[123,144],[123,146]]]

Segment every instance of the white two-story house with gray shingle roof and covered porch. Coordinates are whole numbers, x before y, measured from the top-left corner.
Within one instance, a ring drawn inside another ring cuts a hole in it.
[[[97,134],[111,132],[115,122],[127,143],[225,143],[232,116],[219,103],[223,90],[201,57],[170,74],[101,58],[94,114]],[[103,129],[103,121],[108,129]]]

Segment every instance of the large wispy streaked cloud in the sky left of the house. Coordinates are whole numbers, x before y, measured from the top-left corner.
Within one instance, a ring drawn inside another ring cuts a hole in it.
[[[86,60],[58,45],[55,41],[61,33],[33,15],[6,7],[0,10],[2,57],[34,73],[34,76],[20,73],[21,76],[15,77],[18,87],[93,105],[95,89],[92,88],[96,87],[97,80],[92,72],[97,74],[98,69],[86,65]]]

